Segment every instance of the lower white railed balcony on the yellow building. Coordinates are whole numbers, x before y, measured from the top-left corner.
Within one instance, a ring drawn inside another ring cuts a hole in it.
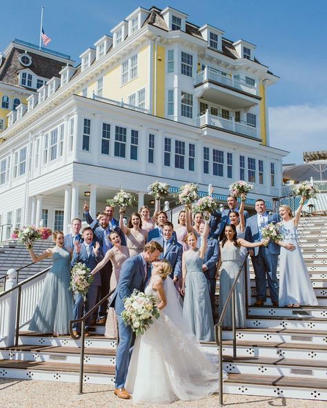
[[[235,118],[231,117],[226,119],[223,116],[215,116],[208,111],[199,116],[197,125],[199,128],[212,126],[213,128],[229,130],[230,132],[245,134],[250,137],[258,137],[257,126],[250,125],[246,121],[235,121]]]

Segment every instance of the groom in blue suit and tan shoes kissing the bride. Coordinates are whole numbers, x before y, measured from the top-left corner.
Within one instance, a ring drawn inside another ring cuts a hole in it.
[[[130,363],[130,345],[132,343],[132,329],[126,326],[121,318],[123,312],[123,299],[128,298],[134,289],[143,291],[150,276],[148,262],[157,260],[164,249],[157,242],[147,243],[143,252],[137,256],[128,258],[121,267],[117,288],[112,294],[109,307],[115,307],[119,330],[119,343],[116,354],[116,384],[115,395],[124,400],[130,398],[130,394],[124,388],[128,365]]]

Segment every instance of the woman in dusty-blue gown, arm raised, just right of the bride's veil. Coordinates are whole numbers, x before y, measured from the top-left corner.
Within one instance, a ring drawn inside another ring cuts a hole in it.
[[[208,283],[202,271],[209,231],[209,223],[206,221],[199,248],[197,236],[193,232],[186,235],[185,241],[190,249],[184,252],[182,258],[181,294],[185,294],[183,316],[199,341],[215,340]]]

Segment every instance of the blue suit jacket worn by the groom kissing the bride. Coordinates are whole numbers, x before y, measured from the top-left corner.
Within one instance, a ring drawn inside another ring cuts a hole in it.
[[[115,307],[117,314],[120,315],[123,312],[123,299],[128,298],[134,289],[143,291],[149,278],[149,271],[150,268],[148,268],[146,275],[141,254],[132,256],[123,263],[117,287],[109,303],[110,307]]]

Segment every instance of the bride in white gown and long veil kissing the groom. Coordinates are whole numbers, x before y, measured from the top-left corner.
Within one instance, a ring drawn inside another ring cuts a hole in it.
[[[145,293],[157,297],[161,314],[135,340],[125,385],[134,403],[196,400],[218,388],[217,368],[183,318],[181,300],[169,277],[171,269],[166,259],[152,263]]]

